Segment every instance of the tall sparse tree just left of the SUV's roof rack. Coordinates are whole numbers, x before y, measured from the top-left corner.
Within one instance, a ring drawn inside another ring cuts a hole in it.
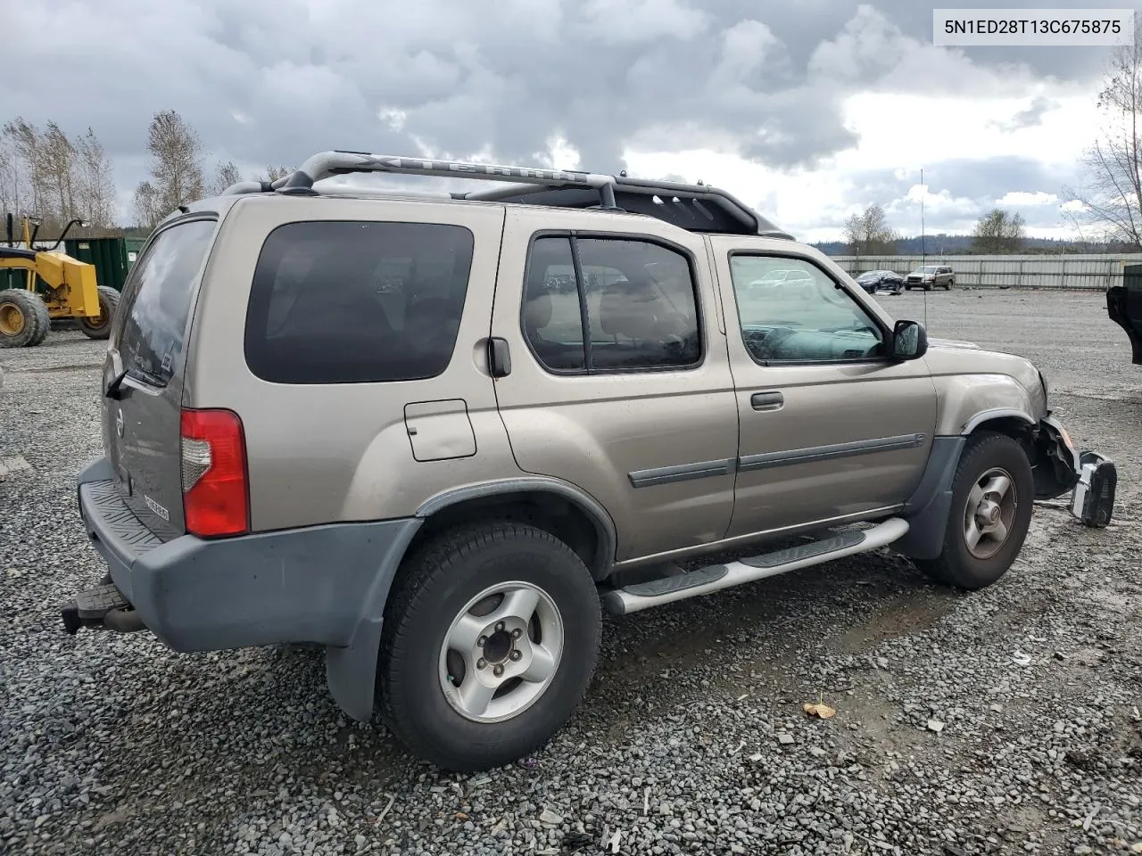
[[[147,132],[147,150],[151,152],[151,180],[136,188],[135,212],[146,213],[147,219],[140,220],[140,225],[153,227],[179,205],[202,199],[206,180],[202,142],[177,111],[163,110],[154,114]]]

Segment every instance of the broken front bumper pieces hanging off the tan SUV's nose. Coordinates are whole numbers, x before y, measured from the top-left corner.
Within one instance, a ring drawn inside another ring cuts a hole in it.
[[[1115,462],[1097,452],[1076,450],[1067,429],[1049,413],[1039,420],[1034,444],[1035,498],[1070,493],[1070,512],[1085,526],[1109,525],[1118,485]]]

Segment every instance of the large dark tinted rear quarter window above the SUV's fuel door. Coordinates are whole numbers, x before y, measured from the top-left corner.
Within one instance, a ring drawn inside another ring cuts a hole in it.
[[[246,362],[275,383],[433,378],[448,368],[474,239],[463,226],[313,221],[266,239]]]

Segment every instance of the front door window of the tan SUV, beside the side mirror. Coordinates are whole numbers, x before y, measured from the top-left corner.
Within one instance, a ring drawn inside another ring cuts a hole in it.
[[[730,270],[741,336],[759,363],[885,355],[879,325],[838,283],[803,259],[734,253]],[[783,270],[774,282],[773,270]],[[769,277],[769,278],[767,278]]]

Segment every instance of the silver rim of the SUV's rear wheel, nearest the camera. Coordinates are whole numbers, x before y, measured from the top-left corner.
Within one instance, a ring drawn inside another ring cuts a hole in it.
[[[563,656],[563,616],[529,582],[491,586],[452,620],[440,649],[448,703],[474,722],[520,716],[550,686]]]

